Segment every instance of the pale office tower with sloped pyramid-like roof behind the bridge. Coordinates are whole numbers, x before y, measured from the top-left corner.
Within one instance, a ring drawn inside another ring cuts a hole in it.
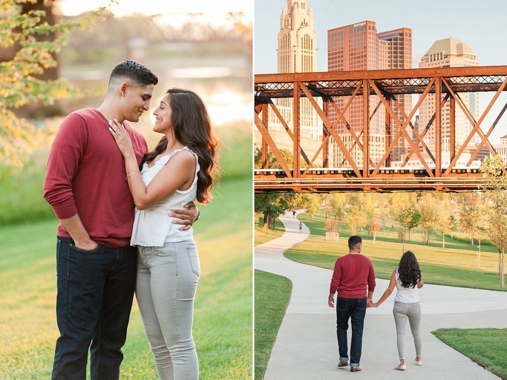
[[[447,38],[433,43],[429,50],[424,54],[419,62],[419,67],[463,67],[463,66],[478,66],[479,60],[477,55],[460,40],[454,38]],[[479,94],[477,92],[461,92],[459,93],[461,100],[465,103],[470,113],[477,120],[479,115]],[[466,118],[463,110],[457,105],[455,107],[455,144],[456,147],[463,145],[466,137],[472,130],[472,124]],[[419,132],[430,122],[433,114],[435,113],[435,95],[427,94],[426,98],[421,103],[419,108]],[[450,151],[450,107],[449,101],[446,101],[442,109],[442,151],[448,153]],[[467,150],[472,150],[477,145],[477,134],[475,139],[469,143]],[[434,122],[424,136],[425,142],[430,146],[435,144],[435,128]],[[457,150],[457,149],[456,149]],[[474,149],[475,150],[475,149]],[[448,153],[449,154],[449,153]],[[447,154],[447,155],[448,155]]]

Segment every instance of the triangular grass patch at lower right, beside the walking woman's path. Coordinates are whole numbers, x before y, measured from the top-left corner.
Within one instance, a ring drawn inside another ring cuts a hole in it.
[[[431,333],[454,350],[507,380],[507,329],[438,329]]]

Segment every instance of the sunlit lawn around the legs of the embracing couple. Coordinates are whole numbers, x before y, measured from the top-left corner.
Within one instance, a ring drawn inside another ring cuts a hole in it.
[[[202,380],[252,376],[251,179],[225,181],[194,237],[201,260],[194,339]],[[54,343],[57,221],[0,228],[0,377],[33,380],[51,375]],[[156,380],[148,340],[134,302],[121,379]]]

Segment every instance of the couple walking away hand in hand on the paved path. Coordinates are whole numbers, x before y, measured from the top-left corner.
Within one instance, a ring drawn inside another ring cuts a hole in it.
[[[361,370],[361,347],[363,343],[363,327],[367,307],[378,307],[396,288],[392,313],[396,325],[396,344],[400,364],[394,369],[404,371],[405,363],[405,329],[407,319],[414,337],[416,350],[416,364],[422,365],[422,340],[419,332],[421,322],[421,306],[417,289],[422,288],[421,270],[415,255],[407,251],[402,255],[398,267],[392,272],[391,280],[382,297],[373,302],[375,290],[375,271],[369,258],[361,255],[362,239],[360,236],[350,236],[348,239],[349,253],[336,260],[333,278],[331,279],[328,304],[334,307],[334,297],[338,290],[336,301],[336,335],[338,338],[338,352],[340,359],[338,367],[349,365],[347,346],[348,322],[352,326],[352,340],[350,343],[350,372]],[[368,290],[368,295],[367,295]]]

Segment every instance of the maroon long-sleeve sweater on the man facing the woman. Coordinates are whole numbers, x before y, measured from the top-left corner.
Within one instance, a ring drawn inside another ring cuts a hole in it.
[[[63,120],[48,158],[44,199],[58,219],[78,214],[91,239],[117,248],[130,244],[134,201],[123,156],[108,127],[94,108],[78,110]],[[126,130],[140,162],[148,151],[146,140],[128,125]],[[57,235],[70,237],[61,224]]]

